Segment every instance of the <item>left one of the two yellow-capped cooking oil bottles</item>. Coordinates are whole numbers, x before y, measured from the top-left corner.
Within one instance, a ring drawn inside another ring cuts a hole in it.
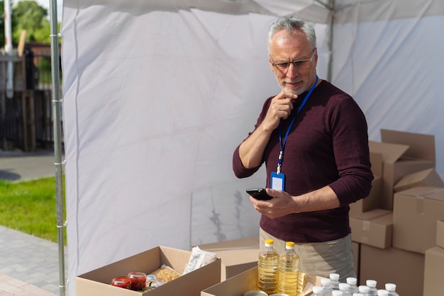
[[[265,239],[265,248],[259,253],[257,263],[257,289],[272,295],[277,292],[277,263],[279,254],[273,249],[274,241]]]

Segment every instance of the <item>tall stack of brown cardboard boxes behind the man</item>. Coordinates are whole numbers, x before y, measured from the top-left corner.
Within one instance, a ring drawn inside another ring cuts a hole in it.
[[[437,256],[435,249],[428,250],[435,248],[436,220],[444,219],[444,183],[435,171],[434,137],[381,130],[381,139],[370,141],[376,180],[372,201],[350,205],[352,239],[360,246],[359,283],[373,279],[379,289],[395,283],[399,295],[434,295],[425,292],[425,259]]]

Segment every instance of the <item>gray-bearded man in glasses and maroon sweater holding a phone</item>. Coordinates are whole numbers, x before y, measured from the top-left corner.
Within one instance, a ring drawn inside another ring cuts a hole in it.
[[[316,35],[296,17],[279,18],[268,34],[269,63],[281,92],[268,98],[255,130],[233,154],[238,178],[267,168],[271,200],[250,196],[261,245],[296,243],[300,270],[340,280],[355,277],[348,204],[370,193],[367,123],[347,93],[318,79]]]

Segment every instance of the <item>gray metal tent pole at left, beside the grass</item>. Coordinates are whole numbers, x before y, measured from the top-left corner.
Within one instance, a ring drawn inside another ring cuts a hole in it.
[[[59,246],[59,290],[60,296],[66,295],[65,281],[65,203],[63,198],[62,132],[60,115],[60,62],[59,34],[57,25],[57,0],[50,0],[50,38],[52,74],[52,126],[54,130],[55,194],[57,205],[57,232]]]

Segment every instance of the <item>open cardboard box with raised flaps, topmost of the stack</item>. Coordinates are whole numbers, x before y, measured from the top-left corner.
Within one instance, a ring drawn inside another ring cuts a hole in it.
[[[369,141],[370,152],[382,154],[382,203],[393,210],[394,185],[410,173],[435,168],[435,138],[412,132],[381,130],[381,142]]]

